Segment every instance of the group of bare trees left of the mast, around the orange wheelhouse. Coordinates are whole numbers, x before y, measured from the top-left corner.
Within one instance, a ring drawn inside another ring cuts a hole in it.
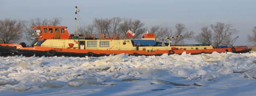
[[[32,26],[57,26],[60,25],[61,18],[53,19],[30,19],[25,20],[0,20],[0,40],[6,43],[19,43],[19,40],[26,39],[28,41],[35,40],[34,30]]]

